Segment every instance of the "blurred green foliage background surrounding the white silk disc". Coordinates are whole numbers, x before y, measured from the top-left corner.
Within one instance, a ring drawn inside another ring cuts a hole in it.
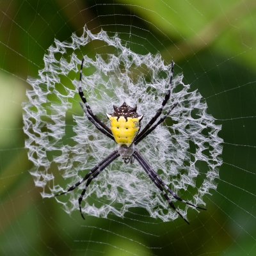
[[[0,1],[0,255],[256,255],[256,1]],[[191,225],[69,216],[29,174],[22,102],[54,42],[119,33],[140,54],[161,52],[222,124],[223,165],[207,212]]]

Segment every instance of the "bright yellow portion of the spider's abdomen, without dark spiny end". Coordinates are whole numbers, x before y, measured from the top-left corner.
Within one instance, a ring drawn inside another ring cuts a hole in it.
[[[130,147],[134,138],[138,134],[140,129],[139,118],[127,117],[127,121],[124,116],[120,116],[117,120],[117,116],[109,116],[111,131],[115,138],[116,143],[121,145],[127,145]]]

